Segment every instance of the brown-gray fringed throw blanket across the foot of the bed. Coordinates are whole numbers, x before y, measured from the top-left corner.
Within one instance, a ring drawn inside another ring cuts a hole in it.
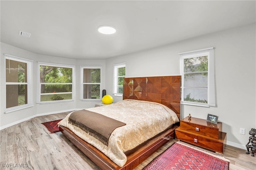
[[[68,123],[81,128],[107,146],[108,139],[113,130],[126,125],[126,123],[87,110],[71,113]]]

